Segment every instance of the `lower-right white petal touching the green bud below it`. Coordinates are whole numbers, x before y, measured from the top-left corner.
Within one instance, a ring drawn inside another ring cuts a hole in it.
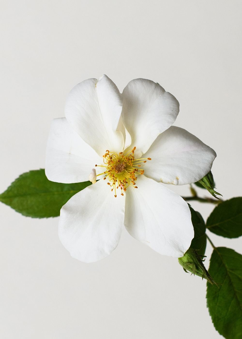
[[[194,237],[187,203],[161,183],[141,175],[126,191],[124,225],[156,252],[182,257]]]

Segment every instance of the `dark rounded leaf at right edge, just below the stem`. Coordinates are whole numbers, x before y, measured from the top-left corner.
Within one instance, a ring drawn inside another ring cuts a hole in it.
[[[242,235],[242,197],[223,201],[207,219],[209,231],[226,238]]]

